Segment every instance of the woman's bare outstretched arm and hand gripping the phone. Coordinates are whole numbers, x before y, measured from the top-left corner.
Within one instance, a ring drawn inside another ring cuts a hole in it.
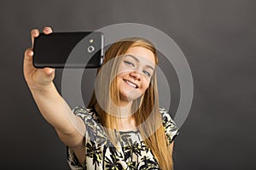
[[[44,34],[52,32],[50,27],[44,28]],[[39,31],[32,30],[32,44]],[[75,116],[55,88],[52,68],[37,69],[32,65],[32,48],[24,54],[24,76],[31,90],[33,99],[45,120],[55,127],[61,141],[70,147],[83,145],[85,125],[79,116]],[[53,56],[54,57],[54,56]]]

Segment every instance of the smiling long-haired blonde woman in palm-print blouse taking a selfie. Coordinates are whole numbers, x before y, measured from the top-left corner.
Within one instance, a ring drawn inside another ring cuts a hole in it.
[[[38,35],[32,30],[32,42]],[[32,54],[26,49],[26,82],[39,111],[67,145],[71,169],[173,169],[177,126],[159,106],[151,42],[136,37],[113,43],[97,71],[88,109],[73,111],[55,88],[55,70],[34,68]]]

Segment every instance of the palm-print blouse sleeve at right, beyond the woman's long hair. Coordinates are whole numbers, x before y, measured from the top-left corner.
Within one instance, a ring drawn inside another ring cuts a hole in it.
[[[172,144],[172,141],[178,135],[178,127],[176,123],[172,120],[172,117],[169,115],[166,109],[160,107],[160,114],[163,119],[163,126],[166,132],[166,136],[169,144]]]

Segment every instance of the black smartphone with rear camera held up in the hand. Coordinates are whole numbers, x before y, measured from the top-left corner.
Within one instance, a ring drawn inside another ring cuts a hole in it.
[[[100,31],[40,33],[34,39],[36,68],[98,68],[104,58]]]

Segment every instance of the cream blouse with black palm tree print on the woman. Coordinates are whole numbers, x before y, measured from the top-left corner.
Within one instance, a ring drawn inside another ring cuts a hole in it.
[[[120,147],[114,147],[104,133],[99,117],[93,109],[76,107],[73,113],[80,116],[86,126],[85,134],[85,161],[79,161],[73,150],[67,147],[67,162],[72,170],[83,169],[160,169],[153,153],[143,142],[138,131],[119,132]],[[160,108],[166,136],[169,144],[178,134],[178,128],[171,116],[163,108]]]

